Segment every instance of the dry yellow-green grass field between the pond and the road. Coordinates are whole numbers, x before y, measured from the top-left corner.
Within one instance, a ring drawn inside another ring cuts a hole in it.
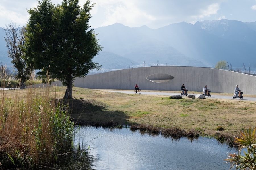
[[[20,95],[26,92],[22,91],[20,90]],[[62,98],[65,87],[54,87],[54,91]],[[12,96],[10,93],[12,92],[7,92],[7,97]],[[44,94],[35,92],[34,95]],[[174,100],[161,95],[124,94],[76,87],[73,88],[73,98],[70,101],[71,116],[82,122],[113,121],[122,125],[194,128],[205,135],[216,134],[218,126],[225,129],[222,133],[233,135],[238,135],[244,127],[248,129],[249,125],[256,126],[255,101],[208,97]]]

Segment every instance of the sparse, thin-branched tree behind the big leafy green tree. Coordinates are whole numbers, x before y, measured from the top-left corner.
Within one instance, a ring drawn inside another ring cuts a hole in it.
[[[24,54],[25,27],[16,27],[15,23],[5,25],[5,42],[8,49],[8,56],[12,59],[14,67],[17,69],[16,78],[20,81],[20,89],[25,88],[25,82],[29,80],[32,68],[27,63]]]

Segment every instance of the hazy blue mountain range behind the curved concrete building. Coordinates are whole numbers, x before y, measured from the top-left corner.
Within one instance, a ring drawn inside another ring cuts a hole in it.
[[[158,29],[115,23],[93,29],[103,47],[93,61],[103,71],[153,65],[214,67],[220,60],[233,68],[256,63],[256,22],[221,19]],[[4,36],[0,29],[0,60],[11,65]]]

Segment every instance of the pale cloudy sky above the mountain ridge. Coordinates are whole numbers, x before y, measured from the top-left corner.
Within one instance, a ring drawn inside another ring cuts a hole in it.
[[[42,1],[42,0],[40,0]],[[55,5],[62,0],[51,0]],[[81,6],[86,0],[79,0]],[[256,22],[256,0],[91,0],[92,28],[121,23],[128,27],[157,29],[169,24],[197,21],[237,20]],[[11,22],[26,25],[28,9],[38,5],[37,0],[1,0],[0,27]]]

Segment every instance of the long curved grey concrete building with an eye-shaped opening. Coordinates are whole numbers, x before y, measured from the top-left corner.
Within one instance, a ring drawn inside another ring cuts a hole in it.
[[[238,85],[244,94],[256,95],[256,76],[234,71],[205,67],[151,66],[110,71],[85,78],[76,78],[75,87],[91,89],[129,89],[138,84],[141,90],[181,90],[182,84],[189,91],[234,93]]]

